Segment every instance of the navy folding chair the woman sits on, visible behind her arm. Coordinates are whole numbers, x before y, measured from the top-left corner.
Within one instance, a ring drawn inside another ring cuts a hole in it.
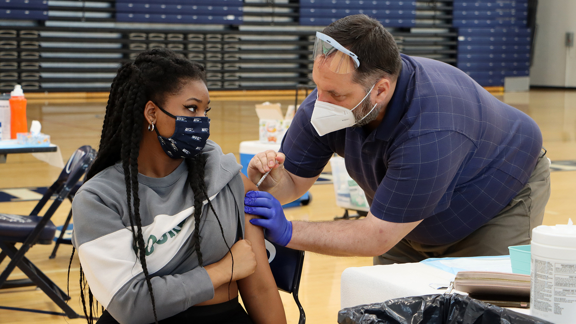
[[[298,324],[306,323],[304,308],[298,299],[298,288],[300,287],[300,277],[302,276],[302,265],[304,264],[304,251],[293,250],[291,248],[279,246],[276,243],[264,240],[268,253],[268,263],[270,270],[276,281],[276,287],[283,292],[291,293],[294,302],[300,310],[300,320]]]

